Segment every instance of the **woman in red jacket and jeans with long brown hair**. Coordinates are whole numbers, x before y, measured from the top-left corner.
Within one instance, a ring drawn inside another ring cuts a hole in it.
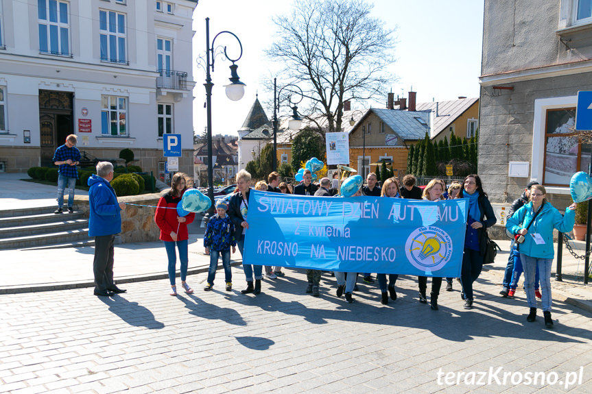
[[[156,208],[156,214],[154,215],[154,221],[156,221],[158,228],[161,229],[161,241],[164,241],[167,256],[169,257],[171,295],[177,295],[177,286],[175,284],[177,262],[175,243],[179,249],[179,260],[181,262],[181,285],[185,288],[185,293],[193,293],[193,288],[185,282],[187,278],[187,264],[189,262],[189,254],[187,253],[189,233],[187,232],[187,225],[195,219],[196,214],[190,212],[187,216],[180,217],[177,213],[177,205],[181,201],[183,193],[187,190],[188,179],[189,177],[185,173],[176,173],[173,175],[171,190],[158,200],[158,208]]]

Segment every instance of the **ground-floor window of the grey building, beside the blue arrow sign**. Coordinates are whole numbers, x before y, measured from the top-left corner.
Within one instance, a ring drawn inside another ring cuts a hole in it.
[[[592,145],[580,141],[575,125],[576,108],[546,110],[543,184],[569,186],[571,175],[588,172]]]

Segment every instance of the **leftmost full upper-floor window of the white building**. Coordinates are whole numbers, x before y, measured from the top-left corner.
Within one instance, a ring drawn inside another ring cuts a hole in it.
[[[37,0],[40,53],[71,56],[69,5],[67,1]]]

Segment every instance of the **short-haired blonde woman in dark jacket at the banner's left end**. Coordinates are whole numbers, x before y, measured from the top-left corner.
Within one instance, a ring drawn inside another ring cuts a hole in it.
[[[251,174],[245,170],[237,173],[237,188],[238,193],[230,197],[228,203],[228,217],[235,223],[235,240],[239,245],[241,256],[244,256],[245,233],[249,228],[247,223],[247,213],[249,209],[249,185],[251,183]],[[263,267],[261,265],[245,264],[243,260],[243,271],[246,276],[247,286],[241,291],[243,294],[254,293],[255,295],[261,293],[261,279],[263,275]],[[255,277],[255,284],[253,286],[253,271]]]

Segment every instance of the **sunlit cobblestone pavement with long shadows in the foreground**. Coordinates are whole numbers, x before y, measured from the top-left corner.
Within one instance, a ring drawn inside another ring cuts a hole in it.
[[[302,271],[285,272],[257,296],[239,293],[239,268],[232,293],[219,271],[214,291],[191,275],[196,292],[178,297],[167,280],[126,284],[112,298],[91,288],[1,295],[0,392],[592,392],[590,313],[556,302],[545,330],[540,312],[525,320],[523,297],[497,295],[490,273],[475,284],[473,310],[454,282],[433,311],[408,276],[383,306],[375,284],[359,284],[346,304],[328,274],[316,298]],[[524,384],[527,372],[545,383]]]

